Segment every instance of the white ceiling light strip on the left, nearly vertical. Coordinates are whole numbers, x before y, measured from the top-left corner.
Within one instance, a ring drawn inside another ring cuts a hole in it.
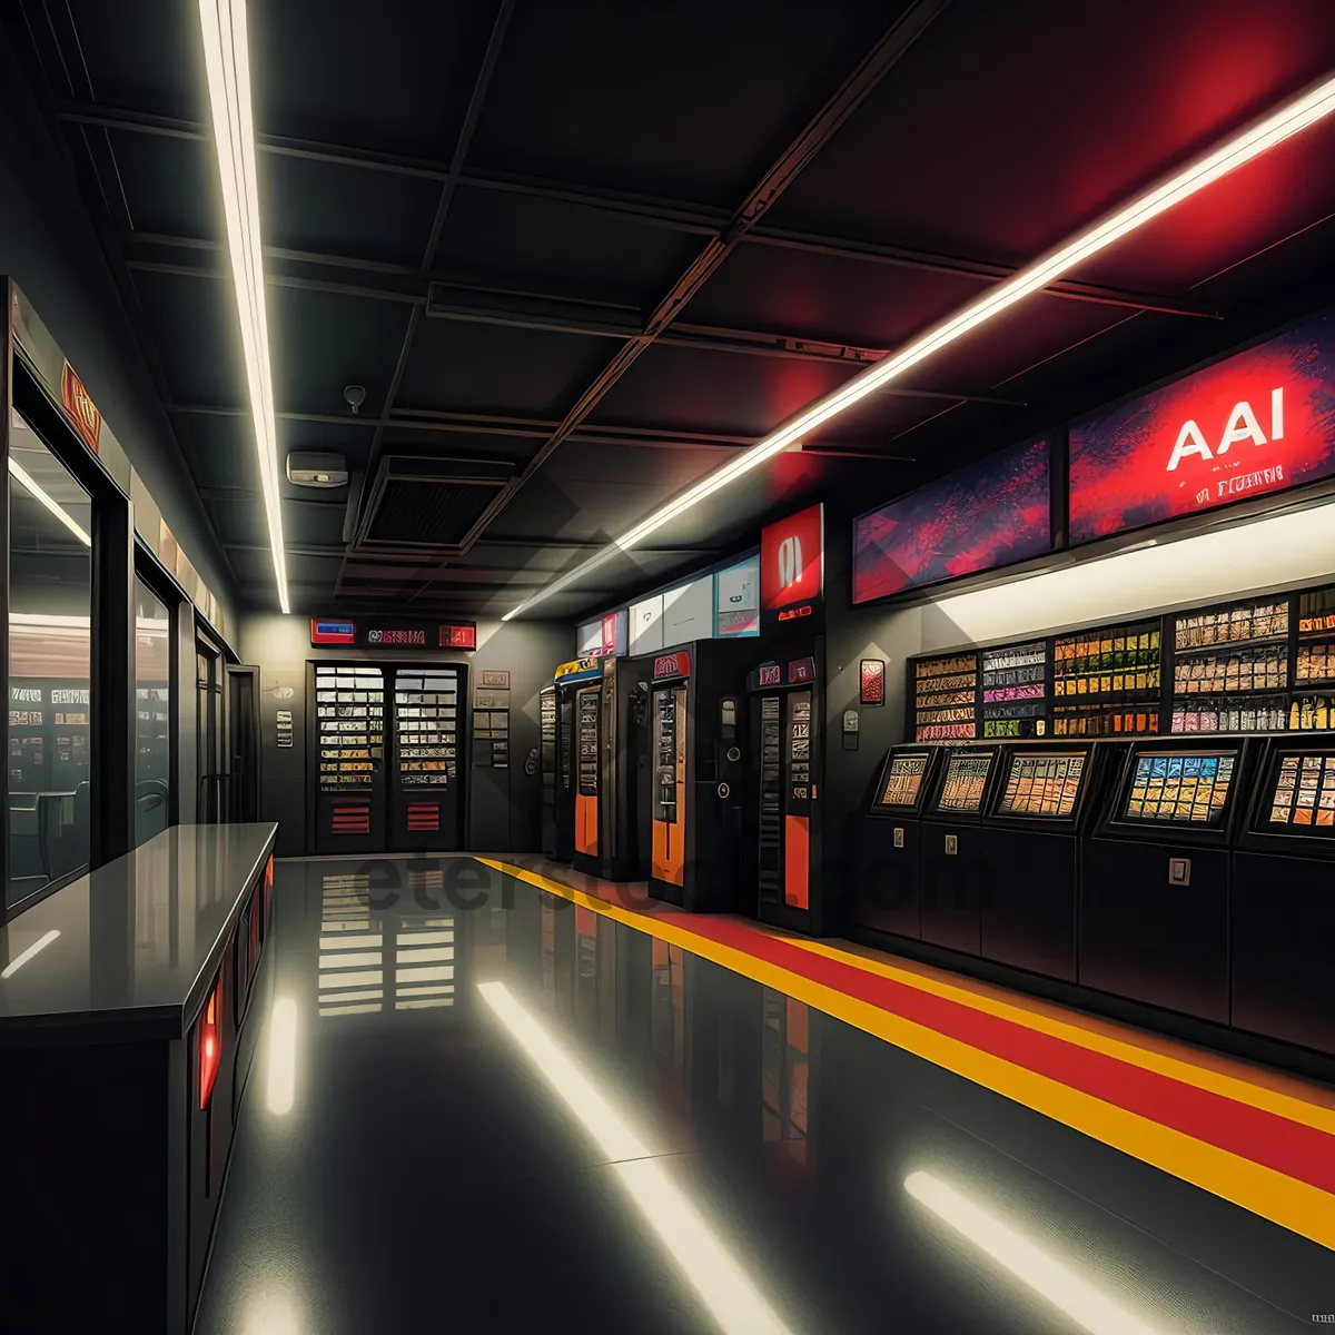
[[[286,613],[290,610],[287,566],[283,559],[283,511],[278,487],[278,425],[268,360],[268,322],[264,315],[264,259],[259,235],[246,0],[199,0],[199,23],[204,35],[208,101],[214,116],[214,143],[218,146],[223,212],[227,216],[227,250],[242,323],[242,352],[250,386],[255,450],[259,455],[264,510],[268,514],[268,542],[274,550],[278,601]]]

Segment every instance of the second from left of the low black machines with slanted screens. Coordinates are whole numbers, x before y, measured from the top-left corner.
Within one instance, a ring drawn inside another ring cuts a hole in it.
[[[981,818],[1001,748],[951,748],[922,818],[922,940],[981,951]]]

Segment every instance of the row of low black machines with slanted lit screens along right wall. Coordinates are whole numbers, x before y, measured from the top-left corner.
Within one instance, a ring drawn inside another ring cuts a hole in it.
[[[854,918],[1335,1055],[1335,738],[893,746]]]

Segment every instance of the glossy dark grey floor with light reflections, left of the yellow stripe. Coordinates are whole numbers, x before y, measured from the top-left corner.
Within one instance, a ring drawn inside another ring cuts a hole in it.
[[[266,949],[203,1335],[1335,1316],[1323,1247],[469,860],[279,864]]]

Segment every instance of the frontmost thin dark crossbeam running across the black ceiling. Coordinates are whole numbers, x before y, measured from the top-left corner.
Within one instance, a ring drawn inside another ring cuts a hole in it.
[[[208,138],[203,125],[198,121],[155,116],[139,111],[115,109],[93,103],[63,101],[57,105],[57,115],[61,120],[72,124],[101,125],[108,129],[121,129],[132,134],[194,140],[207,140]],[[280,135],[256,135],[256,147],[262,152],[306,158],[342,167],[419,176],[426,180],[438,180],[442,183],[450,178],[450,167],[446,163],[405,158],[398,154],[382,154],[366,148],[352,148],[344,144],[316,143],[314,140],[291,139]],[[662,227],[689,236],[718,236],[729,222],[726,212],[705,204],[651,199],[643,195],[594,190],[590,187],[574,187],[561,182],[543,180],[513,172],[479,171],[477,168],[461,171],[457,184],[467,190],[486,190],[571,204],[578,208],[590,208],[626,218],[642,226]],[[825,255],[832,259],[889,264],[898,268],[914,268],[933,274],[949,274],[957,278],[977,279],[984,283],[1003,282],[1019,272],[1020,267],[960,255],[947,255],[910,246],[886,246],[878,242],[848,240],[817,232],[773,227],[765,223],[752,227],[741,238],[741,244],[772,246],[806,251],[812,255]],[[266,247],[267,252],[268,248]],[[398,271],[406,268],[406,266],[387,266],[387,268]],[[1092,302],[1097,306],[1125,306],[1132,310],[1203,319],[1219,319],[1220,316],[1216,306],[1187,296],[1143,292],[1101,283],[1080,283],[1073,279],[1061,279],[1051,283],[1044,288],[1044,292],[1048,296],[1059,296],[1075,302]]]

